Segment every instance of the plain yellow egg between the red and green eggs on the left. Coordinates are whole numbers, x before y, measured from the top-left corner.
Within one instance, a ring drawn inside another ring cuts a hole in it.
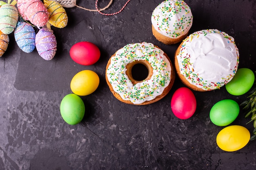
[[[91,70],[78,72],[71,80],[70,88],[74,94],[87,96],[99,86],[99,76]]]

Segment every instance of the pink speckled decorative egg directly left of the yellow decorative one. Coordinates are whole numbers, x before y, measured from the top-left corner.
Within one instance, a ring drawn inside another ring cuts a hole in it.
[[[27,0],[24,12],[27,19],[38,27],[45,26],[49,20],[47,9],[40,0]]]

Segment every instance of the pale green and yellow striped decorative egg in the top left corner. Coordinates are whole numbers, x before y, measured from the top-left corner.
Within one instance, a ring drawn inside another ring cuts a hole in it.
[[[16,28],[18,22],[18,10],[11,4],[4,4],[0,8],[0,31],[10,34]]]

